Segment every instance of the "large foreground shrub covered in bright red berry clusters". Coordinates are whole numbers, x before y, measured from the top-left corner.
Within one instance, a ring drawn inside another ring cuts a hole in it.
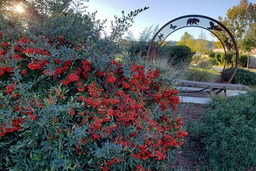
[[[166,169],[178,90],[63,41],[0,40],[0,169]]]

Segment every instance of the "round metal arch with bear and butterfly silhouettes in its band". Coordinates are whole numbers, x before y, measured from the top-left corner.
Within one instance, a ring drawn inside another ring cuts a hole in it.
[[[218,22],[218,20],[215,20],[214,18],[210,18],[204,15],[198,15],[198,14],[190,14],[190,15],[184,15],[179,18],[175,18],[171,20],[170,22],[167,22],[164,26],[162,26],[156,34],[154,34],[154,37],[152,38],[150,42],[150,46],[147,50],[147,54],[149,58],[154,58],[154,55],[158,53],[159,47],[162,45],[162,43],[166,40],[170,34],[173,34],[175,31],[180,30],[182,28],[186,27],[199,27],[205,30],[210,31],[210,33],[214,34],[216,38],[221,42],[225,57],[226,57],[226,51],[234,49],[236,60],[235,60],[235,66],[233,73],[228,80],[228,83],[230,83],[233,78],[234,74],[236,73],[238,69],[238,57],[239,57],[239,50],[237,42],[234,39],[234,36],[231,34],[230,30],[226,28],[221,22]],[[223,40],[223,38],[220,38],[218,36],[218,32],[225,32],[226,38]],[[226,62],[223,67],[223,70],[226,67]]]

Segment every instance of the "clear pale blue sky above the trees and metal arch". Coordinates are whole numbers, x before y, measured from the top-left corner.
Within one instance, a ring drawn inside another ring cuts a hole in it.
[[[137,10],[144,6],[150,7],[134,18],[134,24],[130,27],[130,32],[134,38],[150,26],[158,26],[160,29],[167,22],[174,18],[187,14],[201,14],[218,20],[218,16],[226,17],[226,12],[233,6],[238,6],[240,0],[89,0],[87,6],[90,12],[97,11],[98,19],[107,19],[108,22],[114,20],[114,15],[122,17],[122,10],[125,14],[131,10]],[[256,3],[256,0],[248,2]],[[209,41],[215,40],[210,32],[196,27],[188,27],[170,34],[169,39],[179,41],[184,32],[188,32],[195,39],[203,32]],[[110,32],[107,28],[106,32]]]

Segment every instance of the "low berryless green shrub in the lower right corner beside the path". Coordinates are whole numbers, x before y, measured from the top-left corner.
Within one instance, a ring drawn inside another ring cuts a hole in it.
[[[256,93],[215,99],[190,125],[191,144],[201,145],[210,170],[256,169]]]

